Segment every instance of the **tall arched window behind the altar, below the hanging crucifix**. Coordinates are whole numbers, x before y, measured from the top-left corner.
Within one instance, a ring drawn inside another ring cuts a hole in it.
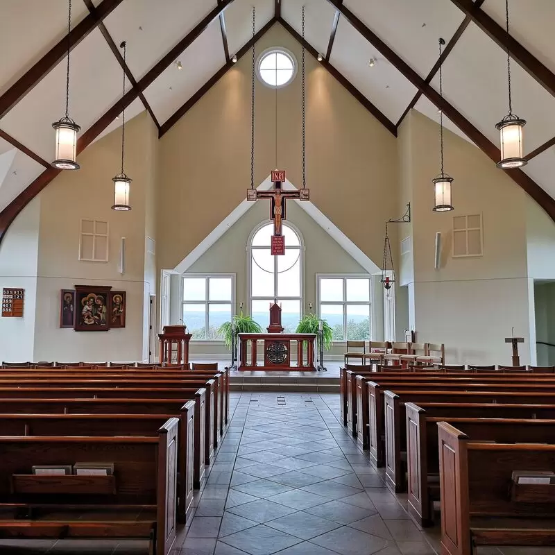
[[[248,256],[250,315],[262,330],[266,330],[270,323],[270,304],[275,299],[282,307],[285,331],[293,333],[301,313],[302,241],[300,234],[284,222],[285,254],[272,256],[272,234],[273,223],[266,223],[251,235]]]

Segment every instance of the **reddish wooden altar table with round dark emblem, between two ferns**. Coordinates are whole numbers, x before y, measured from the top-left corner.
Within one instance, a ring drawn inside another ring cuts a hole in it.
[[[316,334],[239,334],[238,370],[316,370]],[[264,341],[264,364],[257,366],[258,342]],[[297,345],[297,366],[291,366],[291,342]]]

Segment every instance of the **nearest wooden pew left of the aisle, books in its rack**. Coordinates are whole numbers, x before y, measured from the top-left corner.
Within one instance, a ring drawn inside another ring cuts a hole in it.
[[[176,540],[178,419],[157,437],[0,437],[0,538]],[[113,462],[111,476],[33,475],[36,464]]]

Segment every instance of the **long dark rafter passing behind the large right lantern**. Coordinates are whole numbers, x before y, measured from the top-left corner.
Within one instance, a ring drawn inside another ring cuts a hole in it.
[[[442,98],[438,92],[426,83],[414,69],[412,69],[407,62],[404,62],[397,53],[395,53],[383,40],[381,40],[373,31],[363,23],[361,20],[352,13],[348,8],[339,2],[339,0],[327,0],[332,3],[341,15],[348,20],[348,22],[372,44],[382,56],[388,60],[393,67],[407,78],[422,94],[427,96],[427,99],[434,103],[436,107],[443,112],[445,117],[449,118],[472,142],[474,142],[484,154],[490,157],[494,162],[499,162],[500,153],[499,148],[495,146],[481,131],[466,119],[453,105],[451,105],[445,98]],[[536,202],[543,207],[549,217],[555,221],[555,199],[549,196],[533,179],[527,176],[520,169],[511,169],[506,171],[509,176],[517,185],[522,187]]]

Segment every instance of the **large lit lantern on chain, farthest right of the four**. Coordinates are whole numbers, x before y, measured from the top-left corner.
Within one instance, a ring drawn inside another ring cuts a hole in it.
[[[509,0],[505,0],[506,33],[509,39]],[[509,42],[507,41],[507,44]],[[513,114],[513,102],[511,98],[511,55],[507,46],[507,84],[509,85],[509,114],[507,114],[495,127],[499,130],[501,144],[501,160],[497,167],[501,169],[513,169],[525,166],[528,163],[523,157],[522,128],[526,125],[525,119],[520,119]]]

